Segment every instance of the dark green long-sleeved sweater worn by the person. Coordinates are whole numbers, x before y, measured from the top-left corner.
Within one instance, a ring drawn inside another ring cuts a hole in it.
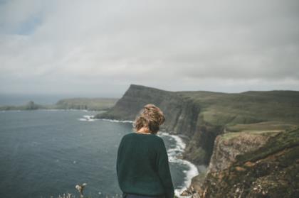
[[[167,150],[154,134],[128,133],[117,150],[117,180],[122,192],[174,197]]]

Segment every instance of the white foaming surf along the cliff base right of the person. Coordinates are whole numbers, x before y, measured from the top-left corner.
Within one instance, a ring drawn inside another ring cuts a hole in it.
[[[186,148],[186,143],[177,135],[169,134],[167,132],[159,131],[158,136],[169,136],[176,141],[176,145],[174,148],[169,148],[167,150],[167,155],[169,157],[169,162],[171,163],[178,163],[181,165],[187,165],[189,167],[189,170],[185,170],[185,177],[184,177],[184,185],[181,188],[174,189],[174,194],[177,197],[191,197],[191,196],[180,196],[184,189],[187,189],[189,185],[191,184],[192,177],[199,175],[199,171],[196,167],[196,165],[192,164],[188,160],[184,160],[179,158],[179,156],[182,156],[182,153],[184,152],[184,149]]]

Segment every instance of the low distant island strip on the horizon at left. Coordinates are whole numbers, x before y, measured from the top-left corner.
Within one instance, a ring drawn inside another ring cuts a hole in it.
[[[34,101],[28,101],[21,106],[0,106],[0,111],[9,110],[36,110],[36,109],[80,109],[88,111],[108,110],[115,105],[118,99],[115,98],[73,98],[61,99],[56,104],[42,105]]]

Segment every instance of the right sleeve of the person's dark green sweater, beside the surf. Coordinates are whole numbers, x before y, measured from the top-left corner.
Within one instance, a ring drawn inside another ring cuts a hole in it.
[[[158,174],[165,191],[165,198],[174,197],[174,186],[172,184],[172,176],[170,175],[167,150],[162,140],[158,155]]]

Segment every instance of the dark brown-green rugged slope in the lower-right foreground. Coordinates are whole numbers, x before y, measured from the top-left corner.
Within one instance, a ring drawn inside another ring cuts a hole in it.
[[[232,163],[211,168],[200,197],[298,197],[299,129],[278,133]]]

